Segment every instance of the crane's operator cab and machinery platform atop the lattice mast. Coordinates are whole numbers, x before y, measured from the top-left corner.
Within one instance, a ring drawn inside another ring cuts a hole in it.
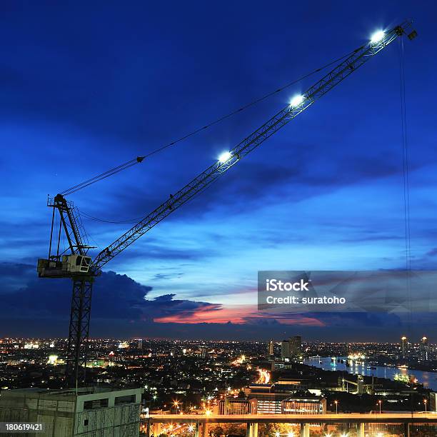
[[[38,260],[38,276],[40,278],[69,278],[90,273],[91,256],[63,255],[62,261],[56,259]]]

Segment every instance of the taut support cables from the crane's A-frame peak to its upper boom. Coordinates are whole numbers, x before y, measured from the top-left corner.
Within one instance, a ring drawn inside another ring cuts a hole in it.
[[[358,49],[357,49],[358,50]],[[178,143],[180,143],[181,141],[184,141],[186,139],[188,139],[191,136],[194,136],[196,134],[199,134],[199,132],[204,131],[206,129],[209,129],[211,126],[214,126],[215,124],[220,123],[221,121],[224,121],[228,118],[230,118],[231,116],[234,116],[248,108],[250,108],[251,106],[255,106],[258,103],[261,103],[261,101],[264,101],[266,99],[268,99],[271,96],[274,96],[275,94],[280,93],[281,91],[283,91],[284,89],[289,88],[290,86],[297,84],[300,81],[303,81],[304,79],[307,79],[308,77],[312,76],[313,74],[318,73],[319,71],[322,71],[324,69],[327,69],[329,66],[333,65],[333,64],[338,64],[338,62],[340,62],[342,59],[345,59],[348,56],[351,56],[351,54],[353,54],[354,51],[351,51],[348,54],[345,54],[343,56],[341,56],[340,58],[334,59],[333,61],[329,62],[328,64],[325,64],[323,66],[321,66],[320,68],[311,71],[311,73],[305,74],[301,77],[299,77],[298,79],[295,79],[291,82],[288,82],[288,84],[285,84],[283,86],[281,86],[281,88],[276,89],[275,91],[271,91],[268,94],[264,94],[263,96],[259,97],[256,100],[251,101],[250,103],[241,106],[241,108],[236,109],[235,111],[229,112],[228,114],[219,117],[218,119],[211,121],[209,124],[206,124],[204,126],[202,126],[201,128],[195,129],[194,131],[191,131],[189,134],[186,134],[184,136],[181,136],[179,139],[176,139],[174,141],[171,141],[171,143],[169,144],[165,144],[164,146],[159,147],[158,149],[155,149],[154,151],[149,152],[148,154],[145,154],[144,156],[137,156],[134,159],[131,159],[130,161],[125,162],[124,164],[120,164],[119,166],[114,167],[114,169],[109,169],[107,171],[104,171],[104,173],[102,174],[98,174],[97,176],[94,176],[91,179],[87,179],[86,181],[81,182],[80,184],[76,184],[74,186],[71,186],[69,189],[66,189],[64,191],[61,191],[60,194],[62,194],[62,196],[68,196],[69,194],[73,194],[76,191],[79,191],[81,189],[84,189],[86,186],[89,186],[91,184],[95,184],[96,182],[99,182],[103,179],[108,178],[109,176],[113,176],[114,174],[119,173],[120,171],[129,169],[129,167],[134,166],[136,164],[141,163],[144,159],[149,158],[150,156],[154,155],[154,154],[158,154],[159,152],[174,146]],[[106,221],[106,220],[103,220]]]

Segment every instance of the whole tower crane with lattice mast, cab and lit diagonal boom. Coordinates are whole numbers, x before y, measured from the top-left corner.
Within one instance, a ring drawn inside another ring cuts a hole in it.
[[[145,216],[98,253],[94,259],[89,256],[89,250],[92,247],[84,243],[84,238],[81,235],[80,217],[73,202],[66,200],[61,194],[48,199],[47,206],[53,209],[49,255],[47,258],[39,258],[37,271],[41,278],[71,278],[73,282],[66,367],[66,378],[69,386],[77,386],[85,381],[91,295],[94,280],[101,274],[101,268],[189,199],[204,191],[216,179],[223,176],[226,171],[260,146],[263,141],[266,141],[296,116],[306,111],[321,96],[340,84],[343,79],[353,74],[360,66],[366,64],[395,39],[406,34],[406,29],[410,26],[411,21],[405,21],[390,31],[376,32],[368,44],[353,51],[303,94],[293,97],[291,104],[278,111],[233,149],[222,154],[218,161],[215,161],[208,169],[175,194],[170,195],[148,216]],[[415,36],[416,31],[411,31],[408,34],[409,39],[413,39]],[[138,161],[141,160],[139,157]],[[59,216],[59,228],[56,226],[55,214]],[[65,251],[60,251],[62,231],[64,231],[64,236],[68,242],[68,248]]]

